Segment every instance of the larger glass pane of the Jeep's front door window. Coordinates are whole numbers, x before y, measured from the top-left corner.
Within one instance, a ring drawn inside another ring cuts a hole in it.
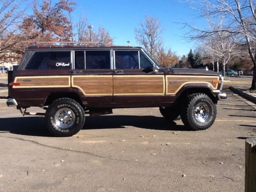
[[[139,69],[138,51],[115,51],[116,69]]]

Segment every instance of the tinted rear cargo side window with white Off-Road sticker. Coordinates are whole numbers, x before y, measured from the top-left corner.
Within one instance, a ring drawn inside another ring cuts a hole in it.
[[[70,69],[70,51],[35,52],[26,69]]]

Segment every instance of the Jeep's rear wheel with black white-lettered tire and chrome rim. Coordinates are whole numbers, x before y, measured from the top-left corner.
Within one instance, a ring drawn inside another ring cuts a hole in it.
[[[85,118],[82,106],[70,98],[53,101],[46,111],[47,128],[57,137],[70,137],[78,133]]]

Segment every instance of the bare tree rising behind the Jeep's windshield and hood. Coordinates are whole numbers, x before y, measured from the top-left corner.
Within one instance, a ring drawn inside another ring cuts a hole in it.
[[[151,56],[155,56],[163,45],[162,32],[163,28],[157,18],[145,16],[145,21],[140,22],[135,29],[135,38]]]

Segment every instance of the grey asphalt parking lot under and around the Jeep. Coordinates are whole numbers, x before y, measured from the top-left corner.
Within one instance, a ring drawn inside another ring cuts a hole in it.
[[[256,106],[225,91],[205,131],[168,122],[157,108],[116,109],[87,117],[67,138],[0,99],[0,191],[243,191]]]

